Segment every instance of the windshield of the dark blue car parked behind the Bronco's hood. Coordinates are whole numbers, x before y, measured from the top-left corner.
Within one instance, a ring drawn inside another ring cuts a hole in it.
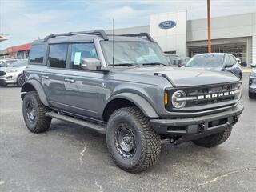
[[[224,55],[203,54],[196,55],[186,63],[186,66],[222,66]]]

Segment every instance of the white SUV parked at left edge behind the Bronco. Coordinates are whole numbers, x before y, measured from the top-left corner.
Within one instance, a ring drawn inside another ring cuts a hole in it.
[[[22,86],[24,82],[23,70],[25,70],[27,62],[27,59],[20,59],[7,67],[0,68],[0,86],[7,86],[8,84]]]

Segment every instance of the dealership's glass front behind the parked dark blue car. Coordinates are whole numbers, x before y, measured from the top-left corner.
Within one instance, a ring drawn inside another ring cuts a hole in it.
[[[213,53],[233,54],[236,58],[240,58],[242,62],[247,62],[246,61],[246,55],[247,55],[246,42],[212,45],[211,49]],[[190,57],[193,57],[195,54],[203,54],[207,52],[208,52],[207,46],[189,46],[188,47],[188,53]]]

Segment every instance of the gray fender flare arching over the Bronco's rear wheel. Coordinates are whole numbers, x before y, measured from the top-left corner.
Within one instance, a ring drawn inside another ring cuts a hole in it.
[[[33,89],[34,88],[34,89]],[[42,104],[44,106],[50,106],[49,102],[47,101],[46,98],[46,94],[45,91],[42,88],[42,85],[40,84],[40,82],[38,82],[35,79],[30,79],[28,81],[26,81],[23,85],[22,85],[22,90],[21,90],[21,98],[23,100],[23,98],[25,97],[25,94],[27,92],[29,92],[30,90],[36,90],[38,93],[38,96],[42,102]]]

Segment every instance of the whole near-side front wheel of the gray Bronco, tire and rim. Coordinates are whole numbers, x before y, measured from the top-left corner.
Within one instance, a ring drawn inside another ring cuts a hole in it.
[[[159,135],[137,107],[114,111],[106,128],[106,144],[114,162],[130,173],[153,166],[161,150]]]

